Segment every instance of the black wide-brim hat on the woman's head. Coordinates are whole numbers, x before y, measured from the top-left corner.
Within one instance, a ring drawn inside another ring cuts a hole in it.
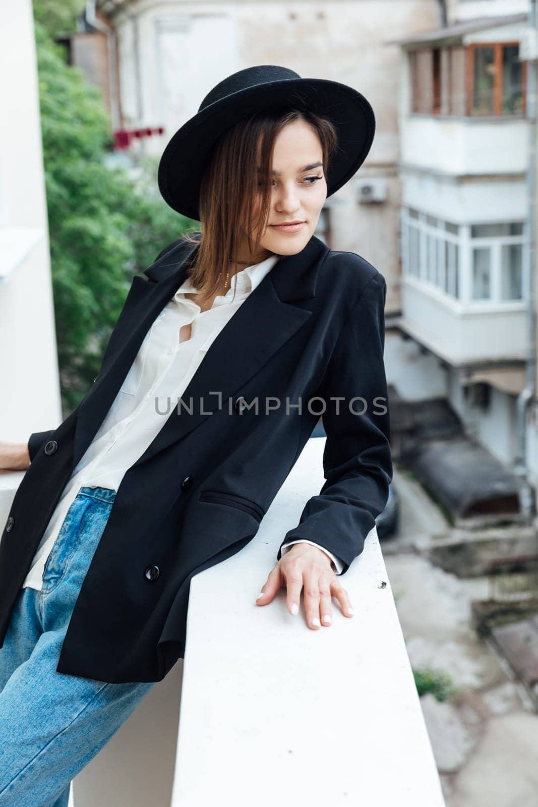
[[[327,196],[352,178],[369,153],[375,132],[373,109],[358,90],[324,78],[301,78],[277,65],[232,73],[203,99],[198,113],[177,130],[159,163],[159,190],[178,213],[196,221],[202,177],[219,137],[240,120],[271,107],[312,111],[329,119],[338,149],[327,171]]]

